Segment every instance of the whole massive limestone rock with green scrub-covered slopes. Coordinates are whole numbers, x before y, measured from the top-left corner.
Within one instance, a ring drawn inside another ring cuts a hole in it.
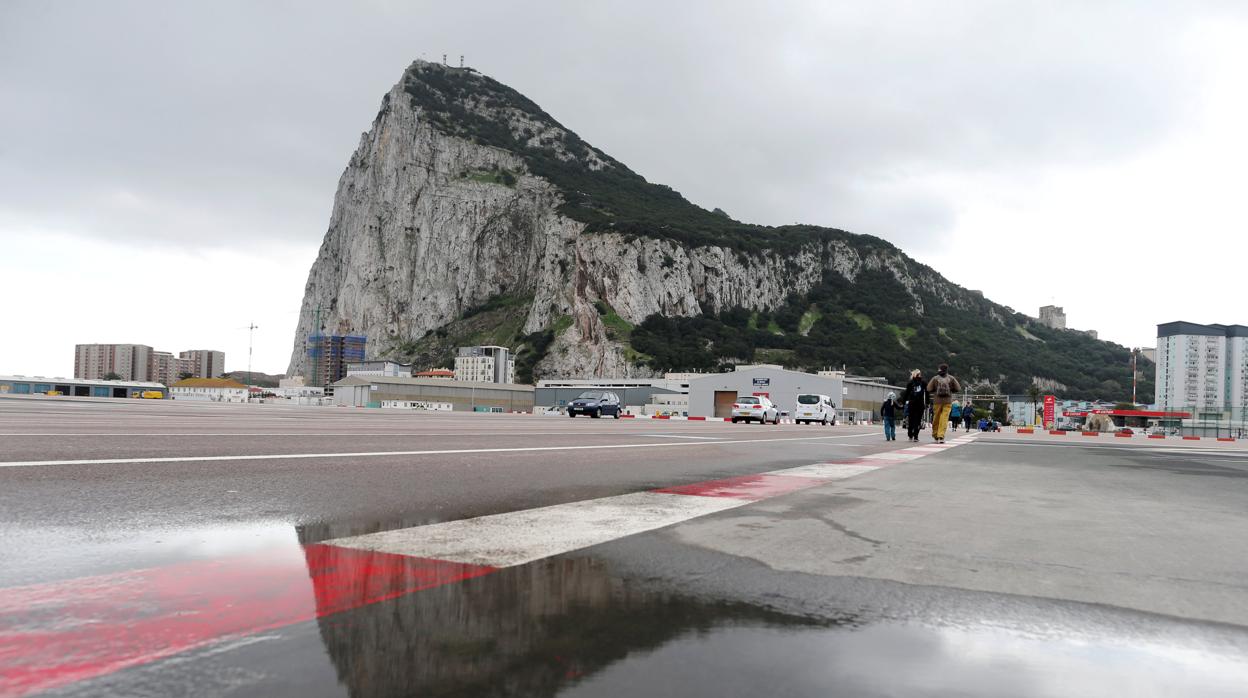
[[[1003,251],[986,271],[1035,270]],[[1051,330],[879,237],[701,209],[517,90],[424,61],[383,97],[338,182],[290,375],[319,332],[422,366],[508,346],[522,382],[768,362],[900,383],[948,362],[1011,393],[1131,397],[1126,347]],[[1149,402],[1152,365],[1141,373]]]

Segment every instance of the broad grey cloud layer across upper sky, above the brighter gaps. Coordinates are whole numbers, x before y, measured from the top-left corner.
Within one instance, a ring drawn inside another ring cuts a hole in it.
[[[956,221],[926,177],[1027,177],[1182,127],[1183,29],[1239,11],[454,5],[6,2],[0,225],[314,243],[381,95],[412,59],[446,52],[701,205],[922,247]]]

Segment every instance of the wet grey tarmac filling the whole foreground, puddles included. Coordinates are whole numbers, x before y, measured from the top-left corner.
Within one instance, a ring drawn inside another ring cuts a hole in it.
[[[986,435],[905,457],[845,427],[212,407],[0,400],[0,460],[403,455],[0,466],[0,696],[1248,686],[1232,447]],[[846,465],[799,482],[820,462]],[[789,489],[743,477],[766,472]],[[502,568],[333,544],[663,488],[741,501]],[[66,648],[61,681],[29,679]]]

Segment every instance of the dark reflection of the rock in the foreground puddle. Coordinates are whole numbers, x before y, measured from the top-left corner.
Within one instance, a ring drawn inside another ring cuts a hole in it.
[[[743,604],[690,603],[548,559],[318,621],[352,696],[552,696],[683,633],[736,622],[816,622]]]

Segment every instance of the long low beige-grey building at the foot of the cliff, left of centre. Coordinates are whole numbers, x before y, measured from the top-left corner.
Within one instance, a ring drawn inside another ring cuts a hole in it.
[[[333,383],[334,405],[381,407],[382,402],[449,403],[456,412],[532,412],[533,386],[409,378],[348,376]]]

